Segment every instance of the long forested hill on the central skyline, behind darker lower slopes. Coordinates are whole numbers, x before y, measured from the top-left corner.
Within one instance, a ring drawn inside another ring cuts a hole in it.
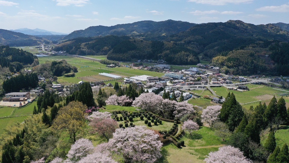
[[[194,25],[196,24],[175,20],[166,20],[161,22],[145,20],[129,24],[118,24],[110,27],[98,25],[91,26],[84,30],[73,31],[64,37],[63,40],[69,40],[77,37],[94,37],[106,35],[135,35],[139,37],[160,39],[161,36],[168,36],[171,34],[179,33],[181,31],[186,31]]]

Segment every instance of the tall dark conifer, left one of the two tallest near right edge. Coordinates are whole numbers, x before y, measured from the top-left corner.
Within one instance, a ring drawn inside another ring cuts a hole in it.
[[[268,107],[266,108],[263,114],[263,120],[266,126],[271,120],[275,118],[276,113],[277,113],[277,99],[275,98],[275,96],[273,96],[273,98],[271,99]]]

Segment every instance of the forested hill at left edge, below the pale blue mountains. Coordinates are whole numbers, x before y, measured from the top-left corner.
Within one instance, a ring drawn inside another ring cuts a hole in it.
[[[0,29],[0,45],[34,46],[41,43],[51,43],[51,41],[41,37]]]

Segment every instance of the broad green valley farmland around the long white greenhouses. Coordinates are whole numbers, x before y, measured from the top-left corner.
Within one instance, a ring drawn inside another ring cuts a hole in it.
[[[87,56],[91,57],[91,56]],[[94,56],[99,57],[98,59],[104,58],[105,56]],[[99,62],[93,62],[89,60],[85,60],[82,58],[73,58],[69,56],[49,56],[49,57],[39,57],[39,63],[45,63],[46,61],[60,61],[66,60],[72,66],[77,67],[78,73],[75,73],[75,77],[58,77],[58,82],[64,85],[75,84],[80,81],[86,82],[96,82],[96,81],[104,81],[106,83],[114,82],[116,79],[100,76],[99,73],[111,73],[113,75],[121,76],[122,78],[138,76],[138,75],[149,75],[149,76],[163,76],[163,73],[157,73],[154,71],[145,71],[138,69],[131,69],[127,67],[114,67],[108,68],[106,65],[101,64]],[[117,79],[117,82],[123,82],[123,80]]]

